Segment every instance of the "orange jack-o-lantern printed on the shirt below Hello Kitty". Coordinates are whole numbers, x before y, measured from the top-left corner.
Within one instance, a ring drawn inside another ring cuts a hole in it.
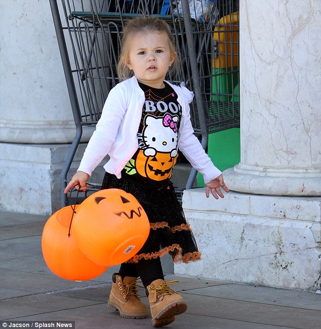
[[[177,156],[173,158],[171,153],[157,152],[153,156],[145,156],[143,150],[140,150],[136,160],[136,169],[143,177],[164,180],[171,178],[176,159]]]

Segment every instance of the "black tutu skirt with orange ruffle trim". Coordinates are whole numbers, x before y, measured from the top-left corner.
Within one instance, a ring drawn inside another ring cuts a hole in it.
[[[200,260],[201,253],[197,249],[195,238],[189,224],[186,223],[183,208],[170,181],[169,184],[155,190],[136,184],[126,175],[118,179],[115,175],[106,173],[102,189],[121,189],[132,194],[148,216],[150,232],[147,241],[127,263],[155,259],[167,253],[172,256],[175,263]]]

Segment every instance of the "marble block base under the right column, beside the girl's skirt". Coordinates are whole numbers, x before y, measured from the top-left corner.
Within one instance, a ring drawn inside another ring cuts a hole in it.
[[[215,200],[195,189],[184,192],[183,208],[202,260],[175,265],[175,274],[320,289],[320,197],[230,191]]]

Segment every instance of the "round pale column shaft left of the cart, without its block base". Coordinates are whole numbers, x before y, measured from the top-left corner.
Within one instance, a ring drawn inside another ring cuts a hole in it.
[[[49,2],[4,2],[0,21],[0,140],[72,141],[74,122]]]

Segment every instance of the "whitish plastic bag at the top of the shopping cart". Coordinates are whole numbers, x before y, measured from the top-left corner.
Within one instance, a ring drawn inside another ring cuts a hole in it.
[[[186,0],[185,0],[186,1]],[[216,23],[218,10],[214,5],[216,0],[189,0],[190,17],[198,22],[208,22],[210,19],[212,23]],[[183,17],[182,1],[179,0],[177,8],[173,10],[174,15]]]

